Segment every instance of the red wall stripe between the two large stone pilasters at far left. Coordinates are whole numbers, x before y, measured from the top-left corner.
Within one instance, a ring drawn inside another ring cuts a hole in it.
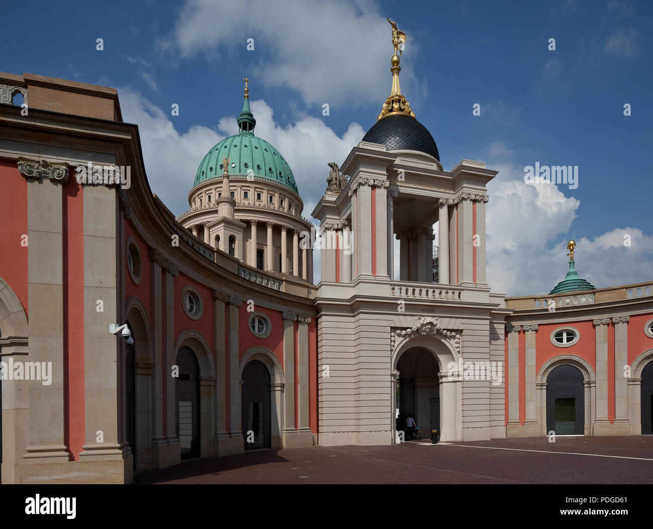
[[[63,351],[65,439],[74,460],[86,443],[84,380],[84,194],[69,179],[63,188]],[[88,307],[95,310],[95,306]]]

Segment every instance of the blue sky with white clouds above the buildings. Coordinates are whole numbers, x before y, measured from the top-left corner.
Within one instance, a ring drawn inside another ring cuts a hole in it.
[[[20,11],[28,33],[0,21],[14,46],[0,69],[118,88],[151,188],[177,214],[204,153],[234,133],[249,77],[255,133],[291,164],[305,216],[327,162],[342,163],[389,95],[390,16],[408,35],[402,93],[445,170],[468,158],[500,171],[488,186],[490,285],[548,292],[564,277],[569,238],[597,287],[653,281],[650,2],[71,1]],[[535,162],[577,165],[578,187],[524,184]]]

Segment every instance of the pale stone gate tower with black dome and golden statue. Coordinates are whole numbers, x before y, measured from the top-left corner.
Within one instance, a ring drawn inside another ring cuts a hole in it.
[[[394,443],[407,415],[441,441],[505,437],[510,311],[485,277],[486,184],[497,171],[470,160],[443,170],[401,94],[396,52],[406,35],[390,24],[390,96],[313,211],[320,444]]]

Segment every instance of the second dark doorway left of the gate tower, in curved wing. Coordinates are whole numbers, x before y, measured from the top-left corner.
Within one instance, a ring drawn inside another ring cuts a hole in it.
[[[200,456],[200,368],[190,347],[177,353],[177,437],[183,459]]]

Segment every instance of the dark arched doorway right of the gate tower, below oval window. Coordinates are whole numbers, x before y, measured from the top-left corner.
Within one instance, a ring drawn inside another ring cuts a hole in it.
[[[584,377],[577,367],[554,367],[547,377],[547,434],[583,435]]]

